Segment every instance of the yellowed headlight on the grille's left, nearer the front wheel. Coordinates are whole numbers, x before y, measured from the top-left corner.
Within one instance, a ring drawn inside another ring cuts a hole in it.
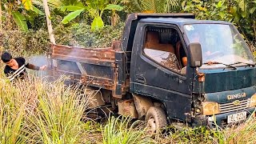
[[[217,102],[202,102],[202,114],[213,115],[218,114],[218,103]]]

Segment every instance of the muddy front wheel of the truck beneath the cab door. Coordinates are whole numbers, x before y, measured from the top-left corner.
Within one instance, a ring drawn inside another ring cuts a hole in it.
[[[157,134],[161,129],[167,126],[166,114],[161,107],[151,106],[146,112],[147,127],[150,134]]]

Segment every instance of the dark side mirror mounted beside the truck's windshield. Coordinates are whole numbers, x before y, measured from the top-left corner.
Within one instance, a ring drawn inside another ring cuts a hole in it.
[[[198,42],[190,43],[188,48],[188,53],[189,53],[188,58],[190,62],[190,67],[195,68],[195,67],[202,66],[202,48],[200,43]]]

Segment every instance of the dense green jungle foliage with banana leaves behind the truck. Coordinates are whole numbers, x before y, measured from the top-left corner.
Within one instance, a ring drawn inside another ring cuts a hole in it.
[[[58,44],[110,46],[122,37],[127,14],[137,12],[190,12],[198,19],[233,22],[253,51],[256,42],[254,0],[50,0],[48,5]],[[1,0],[0,11],[2,49],[18,54],[47,50],[49,36],[41,0]]]

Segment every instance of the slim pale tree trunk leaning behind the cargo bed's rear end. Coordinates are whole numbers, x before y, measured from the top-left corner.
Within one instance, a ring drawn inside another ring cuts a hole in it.
[[[42,2],[43,2],[43,6],[45,9],[45,13],[46,13],[46,21],[47,21],[50,42],[55,44],[54,32],[53,32],[53,27],[52,27],[51,21],[50,21],[50,10],[49,10],[48,4],[47,4],[47,0],[42,0]]]

